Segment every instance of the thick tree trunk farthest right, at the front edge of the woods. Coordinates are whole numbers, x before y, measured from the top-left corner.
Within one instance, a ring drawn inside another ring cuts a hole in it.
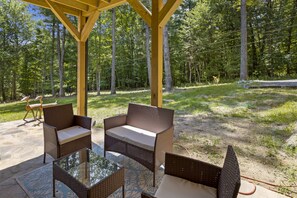
[[[241,60],[240,80],[247,80],[247,20],[246,0],[241,0]]]

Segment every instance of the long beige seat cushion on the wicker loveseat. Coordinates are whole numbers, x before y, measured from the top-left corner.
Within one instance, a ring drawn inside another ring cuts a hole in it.
[[[136,128],[130,125],[123,125],[108,129],[106,134],[140,148],[154,151],[156,139],[156,133],[154,132]]]

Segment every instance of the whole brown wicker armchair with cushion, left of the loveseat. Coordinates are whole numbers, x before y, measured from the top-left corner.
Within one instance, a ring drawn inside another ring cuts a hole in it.
[[[73,115],[72,104],[48,107],[43,112],[43,163],[46,153],[57,159],[85,147],[91,149],[91,118]]]

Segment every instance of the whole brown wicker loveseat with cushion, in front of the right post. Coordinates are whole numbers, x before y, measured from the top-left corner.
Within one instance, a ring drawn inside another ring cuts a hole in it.
[[[104,119],[106,151],[126,155],[153,172],[172,151],[174,111],[153,106],[129,104],[128,113]]]

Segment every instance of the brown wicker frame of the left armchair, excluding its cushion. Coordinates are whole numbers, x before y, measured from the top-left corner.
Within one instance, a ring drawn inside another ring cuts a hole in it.
[[[85,116],[73,115],[72,104],[57,105],[43,109],[44,123],[44,157],[46,153],[57,159],[82,148],[92,148],[91,135],[74,141],[59,144],[57,131],[71,126],[81,126],[91,130],[92,119]]]

